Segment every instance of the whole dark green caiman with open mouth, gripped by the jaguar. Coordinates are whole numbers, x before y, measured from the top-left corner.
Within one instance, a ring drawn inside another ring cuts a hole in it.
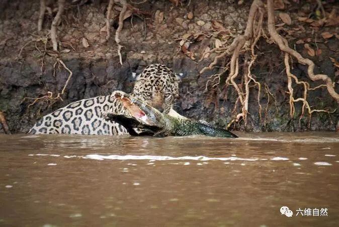
[[[127,114],[118,115],[107,112],[105,119],[124,126],[132,136],[191,136],[232,137],[233,133],[215,128],[204,121],[194,121],[161,113],[156,108],[123,92],[114,91],[115,96],[128,110]]]

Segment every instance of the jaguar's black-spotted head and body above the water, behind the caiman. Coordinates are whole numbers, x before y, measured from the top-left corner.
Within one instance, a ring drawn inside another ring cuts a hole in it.
[[[137,77],[132,95],[162,112],[173,112],[179,96],[179,78],[164,65],[147,66]],[[125,114],[126,109],[111,95],[72,102],[40,119],[30,134],[123,135],[127,130],[105,121],[105,112]]]

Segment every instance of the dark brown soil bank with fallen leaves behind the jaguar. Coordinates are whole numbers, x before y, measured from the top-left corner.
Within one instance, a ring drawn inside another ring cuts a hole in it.
[[[208,81],[214,78],[211,77],[212,75],[220,73],[222,69],[216,67],[203,74],[199,74],[199,71],[215,57],[215,54],[204,54],[206,47],[210,49],[215,47],[215,40],[218,38],[214,36],[215,22],[222,23],[229,32],[229,40],[221,39],[221,41],[230,44],[236,35],[244,31],[250,3],[239,6],[237,1],[182,1],[179,7],[174,7],[169,1],[149,1],[135,5],[144,13],[142,17],[140,15],[138,15],[140,17],[133,16],[133,19],[129,17],[124,22],[120,35],[123,45],[123,65],[120,65],[114,41],[119,8],[114,9],[112,37],[106,41],[106,32],[103,28],[106,24],[107,1],[82,2],[86,3],[69,4],[66,7],[58,27],[59,54],[51,51],[51,43],[46,39],[48,28],[55,15],[54,11],[51,15],[46,14],[43,31],[38,33],[38,1],[5,1],[0,9],[3,12],[0,16],[2,31],[0,33],[0,111],[6,114],[13,133],[27,132],[37,119],[69,102],[96,95],[108,95],[116,89],[130,92],[134,83],[134,73],[140,73],[151,63],[165,64],[176,73],[180,73],[181,96],[175,108],[182,115],[206,120],[220,127],[227,126],[232,120],[236,92],[230,86],[224,88],[227,74],[221,74],[220,83],[213,86],[214,83]],[[300,8],[305,12],[312,8],[307,1],[300,2],[299,5],[288,8],[288,11],[282,11],[289,13],[293,19],[290,27],[300,26],[300,22],[296,19]],[[49,6],[51,9],[56,8],[53,2]],[[281,33],[288,34],[291,47],[315,62],[316,73],[321,72],[329,75],[332,80],[337,80],[335,78],[337,69],[328,56],[339,59],[339,41],[335,36],[324,40],[320,34],[324,31],[339,33],[338,28],[323,27],[314,31],[307,25],[303,27],[305,31],[294,36],[284,31]],[[185,55],[179,48],[180,41],[183,37],[187,37],[186,34],[204,34],[198,40],[191,40],[189,50],[194,53],[195,60]],[[308,38],[311,38],[313,46],[316,45],[321,49],[321,54],[308,56],[304,44],[296,44],[297,40]],[[84,39],[88,42],[88,46],[83,44]],[[246,128],[241,122],[232,127],[237,130],[257,132],[335,131],[339,119],[338,110],[330,114],[313,113],[309,125],[307,112],[299,121],[301,103],[300,105],[297,103],[296,114],[293,119],[290,118],[283,54],[275,45],[267,43],[264,39],[259,42],[258,47],[258,59],[252,72],[263,85],[260,100],[261,118],[257,102],[258,89],[252,87],[249,100],[249,123]],[[64,87],[69,73],[62,65],[55,64],[57,57],[62,59],[73,73],[62,100],[41,98],[32,104],[35,99],[25,99],[25,97],[43,97],[48,92],[52,92],[55,97]],[[228,60],[221,61],[218,66],[224,66],[225,61]],[[300,80],[310,82],[312,87],[321,84],[308,79],[306,67],[303,65],[294,64],[293,73]],[[294,91],[296,97],[301,97],[303,87],[295,85]],[[337,109],[337,103],[325,88],[310,91],[309,102],[314,108]],[[3,131],[0,126],[1,132]]]

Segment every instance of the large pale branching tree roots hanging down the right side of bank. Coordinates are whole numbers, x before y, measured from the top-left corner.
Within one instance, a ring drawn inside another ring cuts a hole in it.
[[[312,109],[309,102],[307,101],[307,92],[309,90],[315,90],[317,88],[321,88],[326,86],[329,94],[339,103],[339,94],[335,92],[334,90],[334,83],[332,80],[324,74],[314,74],[314,63],[307,58],[303,58],[298,52],[288,47],[288,42],[285,38],[281,37],[276,28],[275,28],[275,20],[274,20],[274,8],[273,8],[273,0],[267,1],[267,13],[268,13],[268,33],[271,36],[271,39],[279,46],[279,48],[285,52],[285,59],[284,63],[286,66],[286,74],[288,79],[288,93],[290,95],[290,116],[291,118],[294,117],[295,113],[295,106],[294,103],[298,101],[302,101],[302,109],[301,109],[301,115],[299,117],[299,124],[301,122],[301,119],[304,116],[304,111],[307,110],[309,114],[309,121],[311,120],[311,114],[313,112],[327,112],[331,113],[333,111],[329,111],[326,109]],[[324,14],[324,11],[323,11]],[[215,48],[211,50],[210,52],[220,53],[217,55],[213,62],[211,62],[207,67],[204,67],[200,73],[205,72],[206,70],[211,70],[215,65],[218,63],[218,61],[222,58],[224,58],[227,55],[232,54],[231,60],[230,60],[230,70],[229,75],[226,79],[226,88],[227,85],[232,85],[237,93],[237,99],[234,104],[233,114],[234,118],[230,121],[228,124],[228,128],[231,127],[232,124],[238,123],[241,119],[244,121],[244,125],[247,124],[247,115],[248,112],[248,100],[250,95],[250,87],[253,85],[256,85],[258,87],[258,107],[259,107],[259,118],[261,119],[261,112],[262,112],[262,106],[260,103],[260,95],[261,95],[261,83],[258,82],[251,74],[251,67],[256,62],[257,55],[255,54],[255,47],[260,39],[261,36],[267,37],[266,33],[263,28],[263,20],[264,20],[264,5],[261,2],[261,0],[254,0],[252,2],[252,5],[249,10],[248,14],[248,20],[246,29],[243,35],[240,35],[236,37],[231,45],[229,45],[226,48]],[[250,50],[250,56],[247,54],[247,50]],[[221,51],[221,52],[220,52]],[[244,59],[243,59],[243,75],[241,77],[241,83],[237,84],[236,80],[239,74],[239,53],[244,53]],[[308,82],[300,81],[298,78],[291,73],[289,60],[290,57],[295,57],[299,63],[303,65],[308,65],[308,76],[311,80],[322,80],[325,82],[325,84],[319,85],[317,87],[311,88]],[[214,81],[219,78],[220,80],[220,74],[214,75],[213,80],[208,80],[206,84],[206,89],[208,82],[214,83]],[[219,84],[220,81],[218,81]],[[296,83],[298,85],[302,85],[304,88],[303,96],[299,98],[294,98],[293,96],[293,83]],[[214,87],[215,85],[213,85]],[[269,91],[268,86],[265,84],[266,93],[268,95],[268,102],[265,109],[265,122],[264,125],[266,126],[266,116],[268,113],[268,105],[270,103],[270,96],[273,96],[272,93]],[[274,97],[274,96],[273,96]],[[241,111],[237,112],[238,106],[241,106]],[[275,105],[277,108],[276,100]],[[335,110],[334,110],[335,111]],[[310,126],[310,122],[308,124]]]

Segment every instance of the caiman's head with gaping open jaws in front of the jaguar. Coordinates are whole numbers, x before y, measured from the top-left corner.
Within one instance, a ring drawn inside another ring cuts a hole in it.
[[[106,120],[124,126],[132,136],[161,136],[160,134],[166,126],[163,113],[123,91],[114,91],[112,96],[124,105],[130,116],[106,113]]]

